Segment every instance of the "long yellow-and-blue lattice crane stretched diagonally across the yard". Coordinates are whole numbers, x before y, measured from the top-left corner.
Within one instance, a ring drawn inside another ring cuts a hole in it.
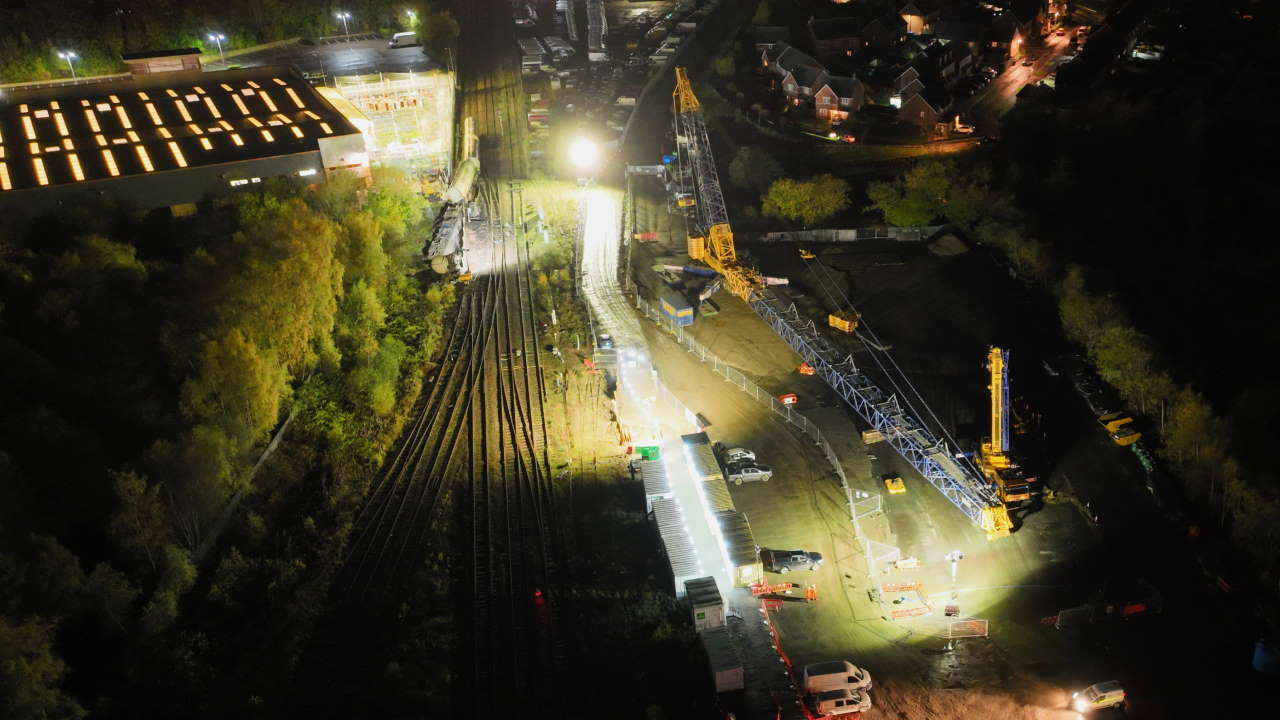
[[[672,92],[676,156],[673,192],[689,222],[689,256],[701,260],[724,278],[724,288],[745,301],[773,328],[804,363],[814,369],[873,429],[883,436],[925,480],[955,505],[988,539],[1007,537],[1009,511],[993,483],[972,470],[959,454],[938,439],[904,410],[896,395],[888,395],[863,373],[847,352],[838,350],[804,318],[795,304],[768,287],[755,268],[737,259],[733,231],[721,192],[716,159],[712,156],[701,105],[689,85],[685,68],[676,68]],[[850,322],[856,315],[851,315]],[[852,328],[851,328],[852,329]],[[879,352],[887,347],[868,345]]]

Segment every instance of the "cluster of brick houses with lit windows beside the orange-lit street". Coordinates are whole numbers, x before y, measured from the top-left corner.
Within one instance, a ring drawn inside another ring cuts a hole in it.
[[[892,0],[865,3],[832,18],[810,18],[814,55],[786,42],[786,28],[756,28],[755,47],[771,83],[795,106],[840,123],[863,105],[897,109],[899,119],[932,129],[952,90],[983,63],[997,64],[1038,45],[1044,0],[991,3]],[[845,72],[831,72],[841,67]]]

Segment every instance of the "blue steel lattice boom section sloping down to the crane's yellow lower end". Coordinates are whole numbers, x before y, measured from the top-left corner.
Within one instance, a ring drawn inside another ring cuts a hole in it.
[[[933,437],[924,424],[904,411],[897,396],[886,395],[876,387],[858,369],[851,355],[841,357],[841,351],[818,332],[813,320],[800,315],[794,302],[774,291],[765,291],[753,295],[750,304],[929,484],[978,528],[986,529],[983,520],[987,509],[1002,507],[995,486],[956,462],[945,442]]]

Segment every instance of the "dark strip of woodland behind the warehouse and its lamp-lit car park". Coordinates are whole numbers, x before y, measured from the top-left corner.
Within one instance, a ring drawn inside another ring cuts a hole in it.
[[[343,32],[338,10],[351,13],[351,32],[417,29],[425,51],[439,54],[458,35],[447,0],[14,0],[0,3],[0,83],[69,77],[59,50],[79,55],[76,72],[123,72],[120,53],[200,47],[220,32],[224,50],[291,37]]]

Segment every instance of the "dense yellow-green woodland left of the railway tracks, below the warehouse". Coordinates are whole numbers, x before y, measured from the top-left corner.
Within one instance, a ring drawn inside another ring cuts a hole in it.
[[[452,300],[375,179],[3,228],[0,716],[278,716]]]

